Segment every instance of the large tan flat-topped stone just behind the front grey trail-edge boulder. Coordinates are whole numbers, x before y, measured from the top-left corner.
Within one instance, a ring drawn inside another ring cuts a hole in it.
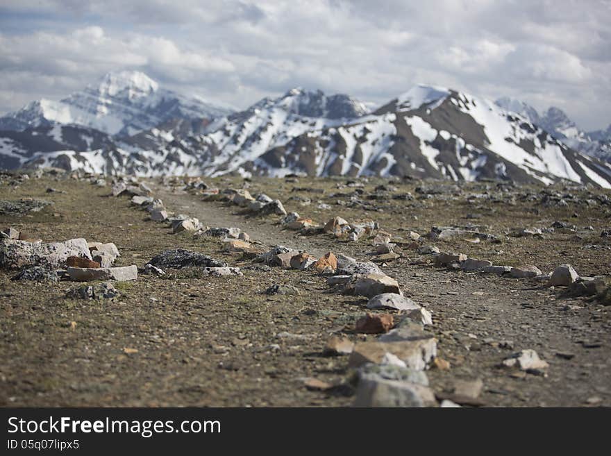
[[[396,342],[359,342],[354,346],[348,365],[359,367],[368,362],[380,364],[386,353],[392,353],[405,362],[406,366],[422,371],[426,364],[435,357],[437,342],[432,337]]]

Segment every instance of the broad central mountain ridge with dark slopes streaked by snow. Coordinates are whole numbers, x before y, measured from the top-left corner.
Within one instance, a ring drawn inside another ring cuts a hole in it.
[[[27,164],[140,176],[296,172],[566,179],[611,188],[611,164],[570,149],[526,117],[477,96],[417,85],[370,114],[355,109],[352,118],[338,118],[328,108],[333,97],[314,94],[290,90],[209,124],[167,123],[96,150],[41,151]]]

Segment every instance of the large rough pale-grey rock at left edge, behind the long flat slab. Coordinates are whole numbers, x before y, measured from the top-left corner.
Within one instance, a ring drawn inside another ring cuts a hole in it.
[[[0,267],[4,269],[19,269],[24,266],[57,268],[62,267],[71,256],[91,260],[91,253],[85,239],[70,239],[49,244],[17,239],[1,239],[0,241]]]

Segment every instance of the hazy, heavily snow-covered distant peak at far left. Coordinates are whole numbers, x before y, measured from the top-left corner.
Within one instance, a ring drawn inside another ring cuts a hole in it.
[[[140,71],[119,71],[60,101],[40,99],[0,117],[0,130],[75,124],[128,136],[170,119],[212,119],[230,112],[198,97],[165,90]]]

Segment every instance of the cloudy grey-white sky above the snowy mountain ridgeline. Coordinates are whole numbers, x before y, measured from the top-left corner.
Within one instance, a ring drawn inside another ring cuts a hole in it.
[[[297,85],[381,104],[430,83],[591,130],[611,122],[609,24],[610,0],[2,0],[0,112],[140,69],[236,108]]]

